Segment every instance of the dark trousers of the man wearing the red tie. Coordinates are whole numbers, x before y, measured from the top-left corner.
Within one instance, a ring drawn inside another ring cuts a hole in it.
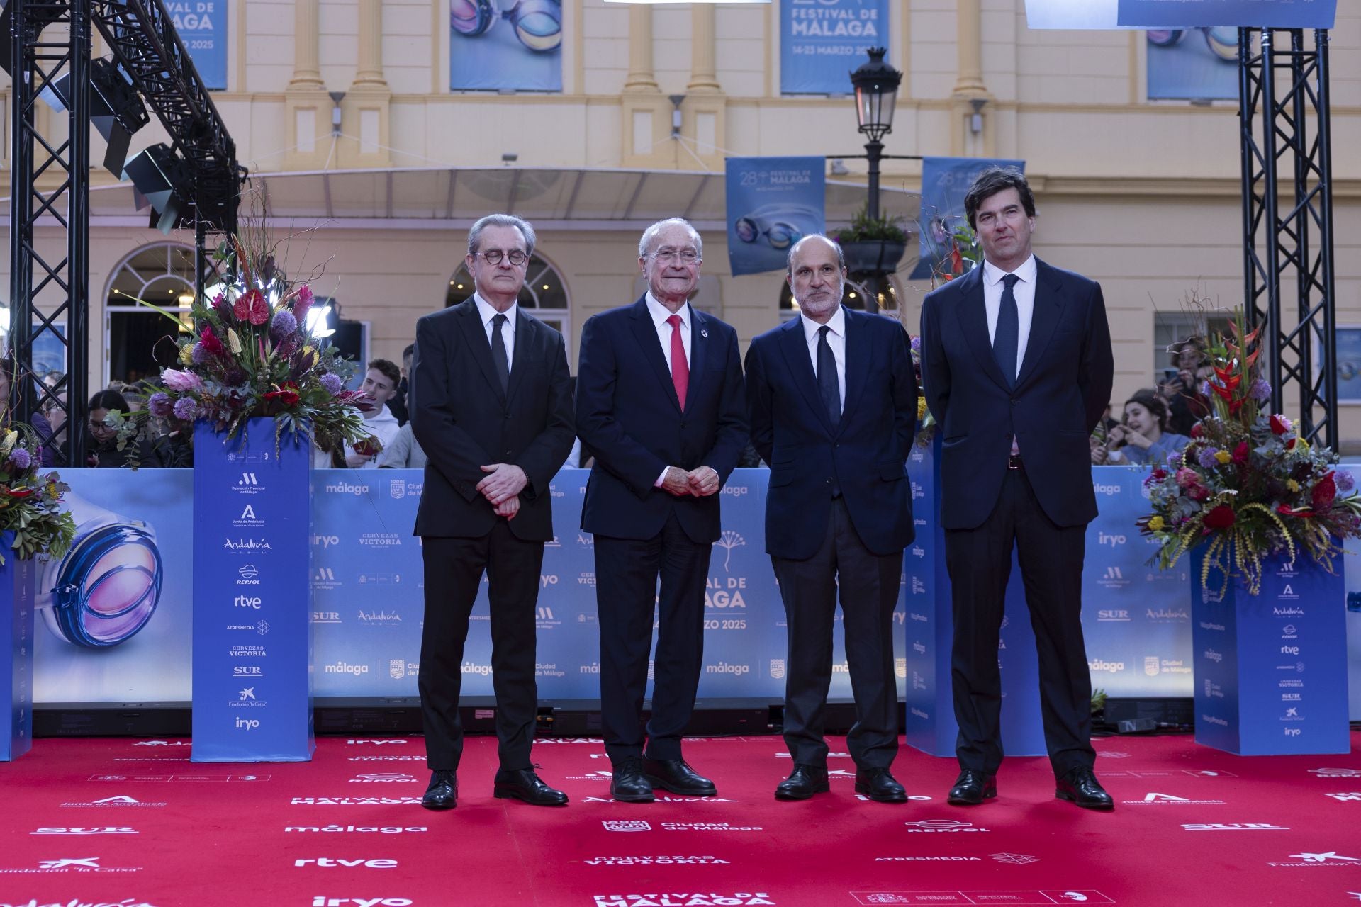
[[[680,759],[704,664],[704,583],[713,545],[667,519],[652,538],[595,537],[600,729],[611,761],[642,755],[652,617],[657,616],[649,759]],[[661,578],[660,590],[657,577]]]

